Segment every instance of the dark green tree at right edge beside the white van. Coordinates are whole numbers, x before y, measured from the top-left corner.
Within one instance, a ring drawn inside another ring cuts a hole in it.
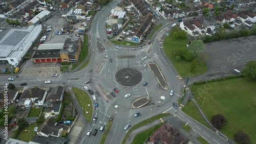
[[[256,61],[249,61],[243,69],[246,80],[256,80]]]

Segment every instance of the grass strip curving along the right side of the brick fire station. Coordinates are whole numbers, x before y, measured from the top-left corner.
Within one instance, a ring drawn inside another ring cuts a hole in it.
[[[88,36],[84,36],[78,62],[72,63],[72,70],[74,70],[84,59],[86,59],[87,56],[88,56]]]

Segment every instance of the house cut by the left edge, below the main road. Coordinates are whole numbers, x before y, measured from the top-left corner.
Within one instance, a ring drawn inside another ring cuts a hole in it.
[[[4,91],[0,91],[0,101],[2,104],[7,103],[8,105],[16,103],[18,91],[17,90],[8,90],[7,96],[5,96]],[[7,97],[7,98],[6,98]]]

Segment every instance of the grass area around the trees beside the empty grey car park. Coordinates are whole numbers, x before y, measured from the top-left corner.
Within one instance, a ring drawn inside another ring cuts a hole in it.
[[[191,76],[195,76],[205,73],[208,70],[208,67],[200,59],[197,60],[196,69],[192,72],[189,71],[190,64],[192,61],[187,61],[184,59],[176,61],[175,59],[173,59],[175,57],[175,50],[180,49],[182,47],[186,47],[187,43],[187,39],[174,39],[171,36],[171,32],[169,32],[169,36],[166,36],[164,38],[163,49],[166,56],[173,63],[181,77],[188,77],[189,74],[191,74]]]

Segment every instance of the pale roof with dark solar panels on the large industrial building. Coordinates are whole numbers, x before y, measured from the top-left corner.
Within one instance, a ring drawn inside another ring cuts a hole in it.
[[[35,34],[39,29],[41,31],[41,25],[28,25],[25,29],[10,29],[0,40],[0,59],[15,57],[27,44],[31,44],[30,39],[37,37]]]

